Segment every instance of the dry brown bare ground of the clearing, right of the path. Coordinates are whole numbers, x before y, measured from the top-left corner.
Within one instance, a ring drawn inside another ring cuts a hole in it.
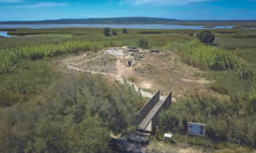
[[[173,53],[147,53],[144,54],[144,57],[145,60],[137,61],[133,67],[123,68],[127,71],[121,71],[123,75],[133,77],[134,83],[141,88],[147,88],[154,92],[161,89],[163,95],[172,91],[173,95],[180,96],[187,90],[206,89],[204,84],[211,82],[193,77],[193,74],[200,70],[175,61],[176,55]],[[117,63],[117,67],[123,67],[118,64],[125,65],[122,60]],[[132,68],[132,71],[128,68]]]

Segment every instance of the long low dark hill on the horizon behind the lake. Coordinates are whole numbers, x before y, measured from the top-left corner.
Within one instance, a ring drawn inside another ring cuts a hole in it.
[[[59,19],[41,21],[1,21],[0,24],[177,24],[177,23],[246,23],[256,20],[177,20],[157,17],[113,17]]]

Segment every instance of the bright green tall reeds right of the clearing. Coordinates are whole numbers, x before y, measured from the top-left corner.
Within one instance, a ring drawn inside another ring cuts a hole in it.
[[[237,57],[234,54],[205,46],[198,40],[168,43],[164,49],[175,50],[184,63],[202,70],[232,70],[237,64]]]

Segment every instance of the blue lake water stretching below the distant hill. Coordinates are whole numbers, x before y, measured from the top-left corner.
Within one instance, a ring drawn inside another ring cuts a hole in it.
[[[165,25],[165,24],[1,24],[0,28],[68,28],[68,27],[87,27],[87,28],[141,28],[141,29],[205,29],[202,25]],[[216,25],[215,28],[232,28],[233,26]],[[214,28],[209,28],[214,29]],[[0,31],[0,35],[7,35],[6,31]]]

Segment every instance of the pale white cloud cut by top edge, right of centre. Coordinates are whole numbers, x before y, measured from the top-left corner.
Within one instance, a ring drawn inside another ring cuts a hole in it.
[[[119,4],[127,3],[131,5],[181,6],[181,5],[188,5],[189,3],[192,3],[192,2],[204,2],[204,1],[216,1],[216,0],[122,0],[119,2]]]

